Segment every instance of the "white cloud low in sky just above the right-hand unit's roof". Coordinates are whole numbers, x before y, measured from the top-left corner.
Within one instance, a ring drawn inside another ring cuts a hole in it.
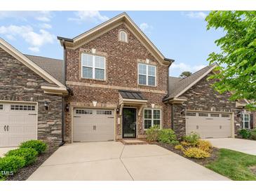
[[[207,66],[206,64],[198,64],[198,65],[190,66],[189,64],[180,62],[179,64],[176,64],[176,63],[171,64],[170,71],[172,74],[173,73],[181,74],[183,71],[190,71],[190,72],[194,73],[206,66]]]

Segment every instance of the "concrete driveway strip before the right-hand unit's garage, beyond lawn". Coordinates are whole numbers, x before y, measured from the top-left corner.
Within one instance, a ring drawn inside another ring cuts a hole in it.
[[[207,139],[217,148],[231,149],[256,156],[256,141],[235,138]]]

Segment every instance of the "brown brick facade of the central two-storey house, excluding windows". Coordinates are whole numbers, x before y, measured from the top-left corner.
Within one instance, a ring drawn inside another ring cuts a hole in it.
[[[118,39],[119,31],[128,33],[128,43]],[[106,58],[106,81],[97,81],[81,78],[81,53],[91,53],[95,49],[96,55]],[[156,87],[138,85],[137,64],[146,62],[156,65]],[[155,108],[162,109],[162,125],[170,126],[168,121],[167,105],[162,99],[167,94],[168,65],[160,64],[125,25],[110,30],[76,49],[67,48],[66,82],[73,95],[69,95],[66,104],[72,107],[97,107],[117,109],[119,107],[118,90],[140,90],[147,98],[147,108],[155,104]],[[117,118],[121,118],[117,114]],[[116,139],[121,138],[121,124],[116,118]],[[144,137],[143,114],[137,116],[137,137]],[[65,139],[72,141],[72,110],[66,113]]]

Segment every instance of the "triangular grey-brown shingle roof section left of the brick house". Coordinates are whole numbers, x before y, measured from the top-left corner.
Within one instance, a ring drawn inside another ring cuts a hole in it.
[[[48,58],[48,57],[41,57],[35,55],[25,55],[32,60],[35,64],[37,64],[41,69],[48,72],[51,76],[56,78],[58,81],[63,81],[63,60]]]

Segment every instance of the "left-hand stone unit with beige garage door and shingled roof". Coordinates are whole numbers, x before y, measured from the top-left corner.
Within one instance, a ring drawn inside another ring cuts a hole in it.
[[[0,147],[62,142],[62,60],[23,55],[0,39]]]

